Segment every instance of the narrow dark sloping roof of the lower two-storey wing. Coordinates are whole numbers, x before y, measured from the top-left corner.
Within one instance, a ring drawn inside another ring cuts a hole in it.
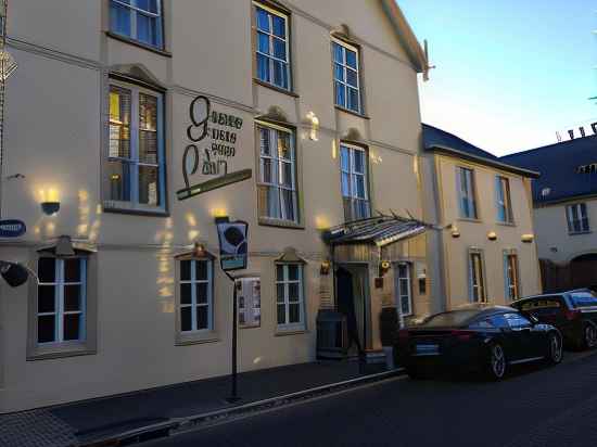
[[[453,133],[436,127],[423,124],[423,148],[425,151],[444,151],[453,155],[471,158],[517,174],[536,177],[536,173],[521,171],[519,166],[508,165],[491,152],[484,151]]]

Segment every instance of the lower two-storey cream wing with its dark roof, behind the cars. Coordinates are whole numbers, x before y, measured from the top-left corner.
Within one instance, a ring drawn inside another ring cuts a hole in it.
[[[541,292],[531,184],[538,174],[500,162],[467,141],[423,125],[425,219],[444,273],[444,306],[507,305]]]

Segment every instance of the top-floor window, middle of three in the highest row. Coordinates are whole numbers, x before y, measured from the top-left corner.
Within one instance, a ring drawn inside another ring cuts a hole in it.
[[[290,90],[289,17],[255,4],[257,78]]]

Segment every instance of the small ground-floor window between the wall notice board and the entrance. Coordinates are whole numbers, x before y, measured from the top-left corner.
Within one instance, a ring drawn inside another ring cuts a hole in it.
[[[303,266],[301,264],[276,265],[276,294],[278,329],[305,329]]]

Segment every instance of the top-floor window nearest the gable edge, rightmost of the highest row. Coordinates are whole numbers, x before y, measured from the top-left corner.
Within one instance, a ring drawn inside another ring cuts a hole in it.
[[[335,105],[361,113],[358,49],[332,41]]]

